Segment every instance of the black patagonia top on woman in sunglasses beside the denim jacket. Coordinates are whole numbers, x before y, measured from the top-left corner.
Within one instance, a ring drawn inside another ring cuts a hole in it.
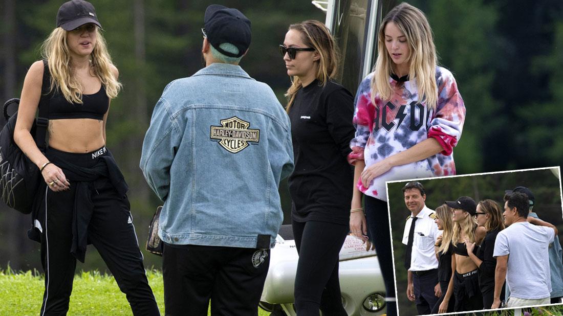
[[[295,169],[289,177],[292,219],[347,225],[354,172],[348,164],[354,97],[334,82],[301,88],[289,110]]]

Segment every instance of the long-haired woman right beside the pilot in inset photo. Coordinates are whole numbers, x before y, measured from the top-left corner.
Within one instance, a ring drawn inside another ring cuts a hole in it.
[[[452,278],[452,234],[453,234],[453,223],[452,223],[452,209],[448,205],[440,205],[436,207],[436,220],[435,223],[438,229],[442,231],[442,234],[436,240],[434,245],[434,250],[436,251],[436,258],[438,259],[438,282],[440,283],[440,288],[442,290],[442,296],[432,308],[432,314],[437,314],[440,308],[440,304],[444,300],[446,291],[448,291],[448,285],[450,279]],[[447,312],[451,313],[454,311],[455,300],[450,299],[448,303]]]

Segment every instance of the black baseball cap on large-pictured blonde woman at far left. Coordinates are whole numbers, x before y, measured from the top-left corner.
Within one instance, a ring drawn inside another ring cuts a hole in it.
[[[72,31],[78,26],[93,23],[102,27],[92,3],[83,0],[72,0],[62,4],[57,12],[57,28]]]

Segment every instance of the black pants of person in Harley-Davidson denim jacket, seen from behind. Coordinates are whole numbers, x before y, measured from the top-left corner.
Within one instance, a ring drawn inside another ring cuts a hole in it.
[[[256,316],[270,250],[164,243],[166,315]]]

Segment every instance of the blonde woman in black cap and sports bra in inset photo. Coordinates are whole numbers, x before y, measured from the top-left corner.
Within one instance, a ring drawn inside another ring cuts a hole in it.
[[[468,243],[479,243],[485,237],[485,228],[477,227],[475,220],[477,205],[468,196],[459,197],[456,201],[446,201],[445,204],[452,208],[454,223],[451,245],[453,274],[438,312],[446,313],[452,297],[455,299],[454,312],[483,309],[477,265],[469,255],[477,249],[466,247]]]

